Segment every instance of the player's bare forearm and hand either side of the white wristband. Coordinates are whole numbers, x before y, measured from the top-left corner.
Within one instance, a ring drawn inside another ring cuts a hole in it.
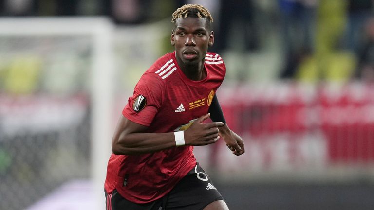
[[[210,114],[198,118],[184,131],[185,145],[201,146],[215,143],[220,137],[222,122],[203,123]],[[146,126],[121,116],[112,138],[112,151],[116,155],[152,153],[176,146],[174,132],[144,133]]]

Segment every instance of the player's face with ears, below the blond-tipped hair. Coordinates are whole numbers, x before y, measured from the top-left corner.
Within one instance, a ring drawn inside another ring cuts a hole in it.
[[[197,64],[205,58],[208,46],[214,42],[214,33],[209,31],[206,18],[178,18],[171,35],[171,44],[176,56],[185,64]]]

